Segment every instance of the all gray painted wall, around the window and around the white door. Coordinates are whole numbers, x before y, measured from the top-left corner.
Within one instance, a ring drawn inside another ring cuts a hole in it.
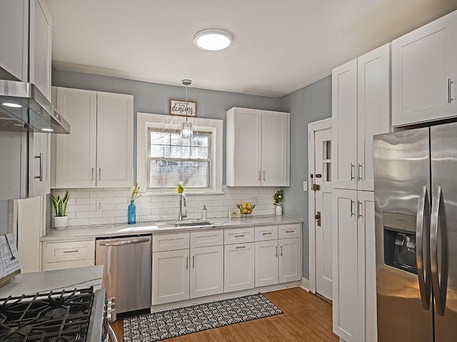
[[[53,86],[131,94],[134,95],[134,113],[168,114],[170,98],[186,98],[184,86],[166,86],[70,71],[53,70]],[[303,276],[308,279],[308,192],[303,192],[303,180],[308,180],[308,123],[331,117],[331,76],[283,98],[190,87],[189,100],[197,102],[200,118],[224,120],[224,133],[226,110],[232,107],[282,110],[291,113],[291,187],[284,189],[284,214],[301,217],[304,220]],[[225,183],[225,137],[223,180]]]

